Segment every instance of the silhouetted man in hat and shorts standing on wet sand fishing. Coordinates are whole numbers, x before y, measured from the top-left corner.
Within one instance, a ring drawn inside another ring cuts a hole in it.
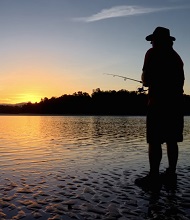
[[[146,37],[150,48],[145,55],[142,82],[148,87],[147,143],[150,172],[136,179],[139,186],[159,183],[162,144],[166,143],[168,168],[165,180],[175,181],[178,161],[178,142],[183,141],[183,61],[173,49],[175,38],[164,27],[157,27]]]

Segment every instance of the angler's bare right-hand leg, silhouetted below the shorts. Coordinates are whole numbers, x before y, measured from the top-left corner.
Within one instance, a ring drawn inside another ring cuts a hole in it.
[[[168,142],[167,143],[167,155],[169,170],[175,173],[177,161],[178,161],[178,144],[177,142]]]

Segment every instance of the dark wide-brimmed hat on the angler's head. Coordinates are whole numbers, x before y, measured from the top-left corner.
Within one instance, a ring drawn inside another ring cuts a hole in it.
[[[167,40],[175,41],[175,37],[170,36],[170,30],[164,27],[157,27],[154,32],[145,38],[147,41]]]

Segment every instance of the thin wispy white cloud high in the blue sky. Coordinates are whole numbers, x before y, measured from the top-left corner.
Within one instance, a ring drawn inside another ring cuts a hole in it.
[[[179,7],[178,7],[179,8]],[[75,21],[93,22],[108,18],[134,16],[140,14],[149,14],[158,11],[168,11],[172,9],[178,9],[177,7],[165,7],[165,8],[145,8],[141,6],[115,6],[109,9],[103,9],[99,13],[91,15],[89,17],[75,18]]]

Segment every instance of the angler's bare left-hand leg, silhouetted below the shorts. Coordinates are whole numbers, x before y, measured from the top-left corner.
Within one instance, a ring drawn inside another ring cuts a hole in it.
[[[158,175],[160,162],[162,159],[161,144],[158,143],[149,144],[148,153],[149,153],[150,174]]]

